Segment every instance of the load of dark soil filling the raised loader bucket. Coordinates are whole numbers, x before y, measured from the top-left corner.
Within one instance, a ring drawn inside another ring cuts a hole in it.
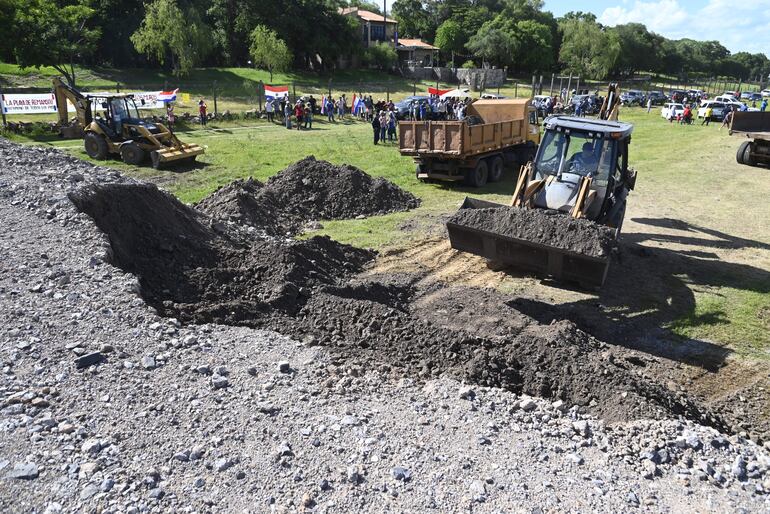
[[[613,229],[545,209],[460,209],[447,223],[553,246],[590,257],[607,258],[615,247]]]

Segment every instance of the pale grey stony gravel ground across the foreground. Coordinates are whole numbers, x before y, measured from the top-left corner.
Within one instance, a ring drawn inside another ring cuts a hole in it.
[[[67,199],[105,182],[0,140],[1,512],[770,510],[739,436],[162,318]]]

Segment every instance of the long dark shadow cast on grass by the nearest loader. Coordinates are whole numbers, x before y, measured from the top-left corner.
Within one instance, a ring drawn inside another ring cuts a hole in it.
[[[608,343],[716,371],[724,365],[732,350],[708,341],[675,336],[669,328],[716,326],[730,322],[721,310],[696,313],[694,290],[729,287],[770,293],[770,272],[748,264],[726,262],[716,253],[708,251],[709,248],[770,250],[770,245],[680,220],[655,218],[634,221],[686,234],[624,234],[620,251],[613,259],[607,281],[598,297],[557,305],[519,298],[513,300],[511,305],[541,323],[566,318]],[[649,242],[695,248],[680,250],[643,244]],[[569,285],[554,285],[570,289]]]

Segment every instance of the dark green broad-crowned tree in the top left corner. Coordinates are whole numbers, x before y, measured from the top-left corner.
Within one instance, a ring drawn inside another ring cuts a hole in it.
[[[9,44],[22,67],[51,66],[70,86],[76,86],[75,65],[96,50],[99,29],[87,0],[58,5],[53,0],[25,0],[11,22],[15,37]]]

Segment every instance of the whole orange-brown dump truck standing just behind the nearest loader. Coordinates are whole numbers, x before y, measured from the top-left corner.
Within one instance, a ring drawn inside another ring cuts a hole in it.
[[[420,180],[497,182],[507,163],[529,161],[540,142],[537,111],[529,99],[476,100],[463,121],[402,121],[401,155],[414,158]]]

